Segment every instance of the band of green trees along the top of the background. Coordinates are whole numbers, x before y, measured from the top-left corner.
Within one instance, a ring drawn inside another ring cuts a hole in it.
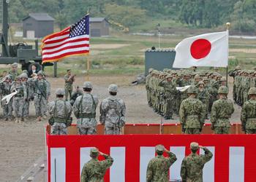
[[[196,28],[213,28],[230,21],[238,31],[256,31],[256,0],[12,0],[10,21],[20,23],[30,12],[48,12],[64,28],[88,9],[92,17],[107,17],[127,28],[148,18],[170,18]]]

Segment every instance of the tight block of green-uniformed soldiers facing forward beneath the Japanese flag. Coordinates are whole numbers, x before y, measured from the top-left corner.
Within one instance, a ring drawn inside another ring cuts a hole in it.
[[[217,71],[157,71],[150,68],[146,77],[148,105],[165,119],[172,119],[173,113],[178,114],[181,102],[188,98],[187,91],[180,92],[177,87],[195,85],[197,98],[203,102],[204,114],[208,118],[211,106],[217,100],[219,87],[226,84],[226,79]]]

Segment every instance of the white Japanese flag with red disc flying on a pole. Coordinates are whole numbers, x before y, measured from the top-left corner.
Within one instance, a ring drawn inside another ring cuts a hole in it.
[[[178,43],[175,50],[173,68],[227,67],[228,31],[189,37]]]

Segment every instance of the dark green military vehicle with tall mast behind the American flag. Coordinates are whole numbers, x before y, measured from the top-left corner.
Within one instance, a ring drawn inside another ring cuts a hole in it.
[[[2,1],[2,4],[1,4]],[[38,55],[38,41],[35,41],[35,48],[23,42],[8,45],[8,5],[10,0],[0,1],[0,11],[2,10],[2,30],[0,33],[1,55],[0,64],[20,63],[22,70],[31,70],[34,64],[37,69],[43,69],[45,66],[53,66],[53,63],[42,65],[42,56]],[[1,7],[2,5],[2,7]],[[0,12],[1,13],[1,12]]]

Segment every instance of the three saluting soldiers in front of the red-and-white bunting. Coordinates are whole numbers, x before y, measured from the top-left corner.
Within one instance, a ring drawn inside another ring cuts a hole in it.
[[[203,149],[205,154],[197,154],[199,149]],[[162,145],[157,145],[155,150],[157,156],[148,162],[146,182],[169,181],[169,169],[177,160],[176,154],[168,151]],[[182,181],[203,182],[203,167],[206,162],[211,160],[213,154],[206,147],[199,146],[195,142],[190,143],[190,150],[191,154],[185,157],[181,163],[181,179]],[[167,154],[167,157],[164,157],[164,153]],[[99,161],[99,155],[105,159]],[[104,181],[106,170],[113,165],[113,158],[95,147],[91,148],[90,157],[91,160],[83,165],[80,182]]]

